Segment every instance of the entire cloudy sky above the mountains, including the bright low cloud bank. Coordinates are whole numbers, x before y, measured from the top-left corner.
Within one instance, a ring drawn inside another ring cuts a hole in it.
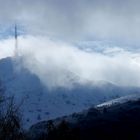
[[[14,36],[4,37],[17,23],[24,66],[45,85],[140,86],[139,7],[139,0],[0,0],[0,58],[14,55]]]

